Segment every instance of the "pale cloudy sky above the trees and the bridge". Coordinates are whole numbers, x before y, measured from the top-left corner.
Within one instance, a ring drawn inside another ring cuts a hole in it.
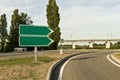
[[[120,0],[56,0],[61,38],[120,38]],[[0,15],[7,15],[8,31],[14,9],[28,13],[34,25],[47,25],[48,0],[0,0]]]

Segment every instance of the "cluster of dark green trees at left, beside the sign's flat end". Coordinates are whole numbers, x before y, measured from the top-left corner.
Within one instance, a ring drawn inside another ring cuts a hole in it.
[[[14,47],[19,47],[19,24],[27,24],[27,14],[19,14],[19,10],[15,9],[13,15],[11,16],[11,26],[10,33],[7,33],[7,19],[6,14],[1,15],[0,17],[0,51],[13,51]]]

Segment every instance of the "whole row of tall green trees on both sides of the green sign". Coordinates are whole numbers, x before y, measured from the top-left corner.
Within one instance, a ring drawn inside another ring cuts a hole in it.
[[[50,38],[54,40],[54,42],[48,47],[48,49],[57,49],[58,42],[60,40],[60,16],[59,16],[59,8],[56,4],[56,0],[49,0],[47,5],[47,23],[48,26],[54,31]],[[13,51],[15,47],[19,47],[19,24],[32,24],[33,21],[29,20],[29,17],[26,13],[20,13],[19,10],[15,9],[11,16],[11,26],[10,33],[7,33],[7,20],[6,14],[1,15],[0,17],[0,40],[1,52],[5,51]]]

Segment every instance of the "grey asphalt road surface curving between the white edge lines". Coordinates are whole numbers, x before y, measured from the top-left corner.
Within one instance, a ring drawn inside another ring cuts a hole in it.
[[[71,59],[62,80],[120,80],[120,68],[106,58],[109,53],[88,53]]]

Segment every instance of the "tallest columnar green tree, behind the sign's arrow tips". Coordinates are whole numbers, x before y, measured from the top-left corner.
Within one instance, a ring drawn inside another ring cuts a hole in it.
[[[59,22],[60,22],[60,15],[59,15],[59,8],[56,4],[56,0],[49,0],[49,3],[47,5],[47,23],[49,25],[49,28],[51,28],[54,32],[49,36],[54,42],[50,45],[50,49],[57,49],[58,43],[60,40],[60,28],[59,28]]]

